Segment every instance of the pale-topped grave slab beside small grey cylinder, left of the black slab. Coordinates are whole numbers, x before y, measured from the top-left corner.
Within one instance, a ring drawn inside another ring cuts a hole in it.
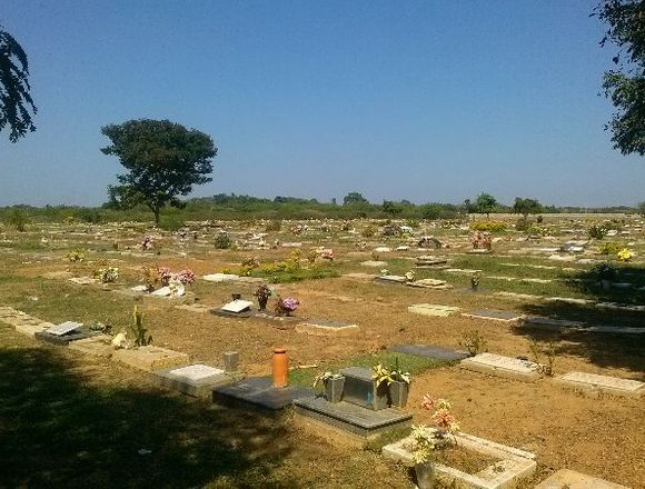
[[[215,387],[228,386],[240,380],[240,375],[227,373],[202,363],[155,370],[151,377],[163,387],[201,398],[210,398]]]

